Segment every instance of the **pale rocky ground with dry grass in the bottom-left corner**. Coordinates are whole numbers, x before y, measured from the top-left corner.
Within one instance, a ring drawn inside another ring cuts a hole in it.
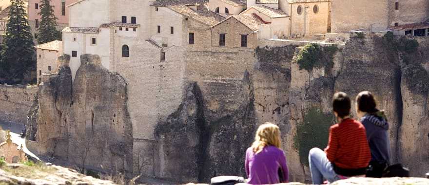
[[[9,168],[23,168],[21,164],[8,164]],[[29,166],[27,166],[29,167]],[[115,185],[111,181],[105,181],[78,173],[76,170],[61,167],[49,167],[49,175],[43,177],[20,177],[12,175],[3,169],[0,169],[0,185]],[[27,174],[28,175],[28,174]]]

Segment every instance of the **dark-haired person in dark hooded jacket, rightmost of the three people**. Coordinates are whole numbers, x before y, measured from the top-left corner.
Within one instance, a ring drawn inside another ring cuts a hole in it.
[[[356,113],[367,131],[371,150],[370,169],[367,177],[381,177],[390,164],[389,123],[384,111],[377,109],[371,92],[360,92],[356,96]]]

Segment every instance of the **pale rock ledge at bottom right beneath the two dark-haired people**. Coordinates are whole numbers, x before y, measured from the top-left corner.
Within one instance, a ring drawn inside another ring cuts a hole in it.
[[[204,185],[204,184],[187,184],[187,185]],[[246,184],[240,184],[246,185]],[[306,185],[302,183],[284,183],[277,185]],[[332,183],[331,185],[429,185],[429,179],[424,178],[350,178],[345,180],[340,180]]]

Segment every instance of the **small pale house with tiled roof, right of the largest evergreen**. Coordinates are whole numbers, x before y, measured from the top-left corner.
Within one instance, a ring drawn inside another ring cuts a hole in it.
[[[54,40],[35,46],[37,61],[37,82],[43,73],[55,73],[59,68],[57,60],[62,53],[62,41]]]

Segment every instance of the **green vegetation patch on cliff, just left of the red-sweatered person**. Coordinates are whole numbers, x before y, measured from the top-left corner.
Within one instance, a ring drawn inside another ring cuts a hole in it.
[[[310,149],[325,148],[328,144],[329,127],[334,121],[331,113],[324,113],[317,107],[305,112],[303,121],[297,125],[293,137],[293,148],[298,151],[301,164],[306,166]]]

